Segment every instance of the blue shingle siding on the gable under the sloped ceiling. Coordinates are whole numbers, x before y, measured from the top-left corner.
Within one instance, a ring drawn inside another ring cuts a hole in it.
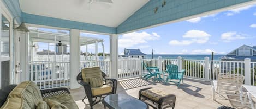
[[[162,8],[162,1],[151,0],[118,25],[117,33],[121,34],[249,1],[252,0],[167,0]],[[154,14],[156,7],[158,11]]]

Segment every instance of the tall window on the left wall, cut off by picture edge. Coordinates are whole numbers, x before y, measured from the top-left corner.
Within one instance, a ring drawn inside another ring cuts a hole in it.
[[[2,15],[2,33],[1,33],[1,56],[10,56],[10,22]]]

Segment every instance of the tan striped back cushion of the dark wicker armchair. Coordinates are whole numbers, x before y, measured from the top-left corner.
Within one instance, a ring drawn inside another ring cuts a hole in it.
[[[82,69],[82,79],[84,82],[90,82],[90,78],[102,78],[102,70],[99,67]]]

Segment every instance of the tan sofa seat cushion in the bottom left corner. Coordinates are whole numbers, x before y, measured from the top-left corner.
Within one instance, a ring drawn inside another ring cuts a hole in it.
[[[21,98],[7,98],[0,109],[21,109],[23,101]]]

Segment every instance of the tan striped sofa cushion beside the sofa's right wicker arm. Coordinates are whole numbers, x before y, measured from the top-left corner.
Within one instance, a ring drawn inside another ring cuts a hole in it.
[[[61,94],[49,98],[44,98],[45,101],[49,99],[58,101],[59,103],[65,105],[67,108],[78,109],[78,106],[76,105],[74,99],[71,97],[70,94]]]

